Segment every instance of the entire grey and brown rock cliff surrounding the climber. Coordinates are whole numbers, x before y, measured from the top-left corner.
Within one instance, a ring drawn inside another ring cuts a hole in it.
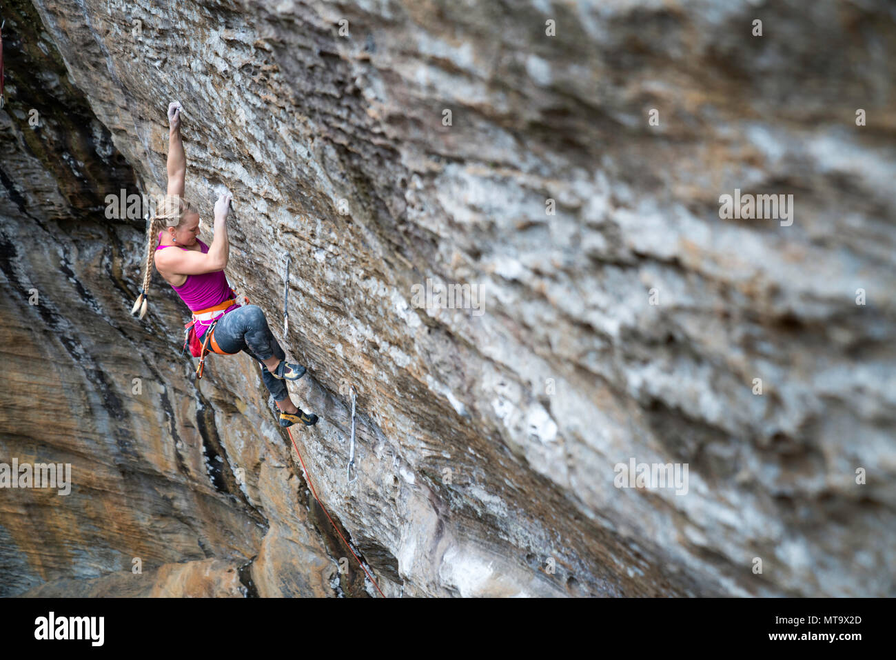
[[[5,593],[370,592],[251,360],[196,386],[171,292],[126,315],[142,223],[101,200],[160,191],[177,99],[186,193],[234,192],[228,276],[271,319],[292,255],[293,391],[323,417],[297,440],[386,595],[896,594],[885,4],[34,5],[6,28],[39,75],[7,64],[0,115],[2,448],[71,456],[75,487],[3,493]],[[794,194],[793,224],[719,220],[735,188]],[[427,278],[484,313],[414,308]],[[616,489],[630,457],[686,463],[687,494]],[[101,577],[134,556],[139,585]]]

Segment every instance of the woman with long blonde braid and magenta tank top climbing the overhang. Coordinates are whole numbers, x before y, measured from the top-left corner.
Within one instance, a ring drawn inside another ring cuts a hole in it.
[[[264,385],[280,408],[280,426],[289,427],[299,421],[312,426],[317,415],[302,412],[293,404],[283,382],[302,378],[305,367],[286,361],[286,353],[271,334],[262,309],[257,305],[238,305],[224,275],[230,247],[227,216],[232,195],[220,195],[215,203],[215,233],[211,247],[198,238],[199,213],[183,197],[186,156],[180,136],[180,111],[181,105],[177,101],[168,106],[168,195],[150,221],[143,288],[134,303],[133,313],[139,309],[141,318],[146,314],[152,262],[194,312],[194,327],[201,342],[213,326],[210,343],[217,343],[220,351],[245,351],[261,362]],[[217,324],[215,319],[218,319]]]

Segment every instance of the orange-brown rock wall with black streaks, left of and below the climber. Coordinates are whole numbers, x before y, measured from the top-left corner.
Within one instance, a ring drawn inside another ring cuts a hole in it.
[[[7,29],[39,25],[20,11]],[[333,594],[334,540],[314,532],[251,360],[222,360],[197,388],[171,291],[148,324],[126,314],[142,221],[106,220],[104,195],[134,189],[133,172],[47,35],[22,33],[5,35],[0,113],[0,462],[71,463],[73,488],[0,491],[0,594]]]

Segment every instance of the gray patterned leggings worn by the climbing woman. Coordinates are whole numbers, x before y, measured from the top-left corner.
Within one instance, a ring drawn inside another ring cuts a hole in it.
[[[221,351],[228,353],[245,351],[259,362],[273,356],[286,360],[286,353],[271,334],[268,319],[264,317],[264,312],[258,305],[245,305],[220,317],[218,325],[215,326],[215,341],[218,342]],[[271,376],[271,372],[263,363],[262,380],[274,397],[274,401],[283,401],[289,396],[286,382]]]

